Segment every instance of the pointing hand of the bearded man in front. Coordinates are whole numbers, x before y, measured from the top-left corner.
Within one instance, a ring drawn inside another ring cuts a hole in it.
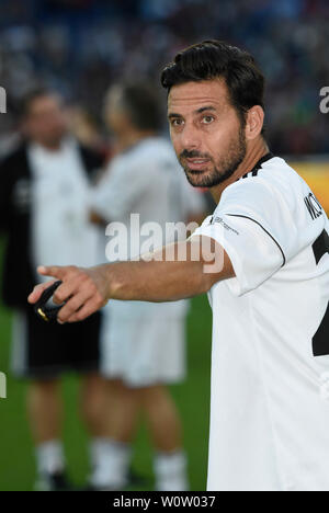
[[[84,320],[107,303],[106,278],[102,265],[91,269],[41,266],[37,272],[64,282],[53,297],[56,305],[66,301],[58,312],[59,323]],[[29,303],[35,304],[53,283],[54,281],[37,285],[30,294]]]

